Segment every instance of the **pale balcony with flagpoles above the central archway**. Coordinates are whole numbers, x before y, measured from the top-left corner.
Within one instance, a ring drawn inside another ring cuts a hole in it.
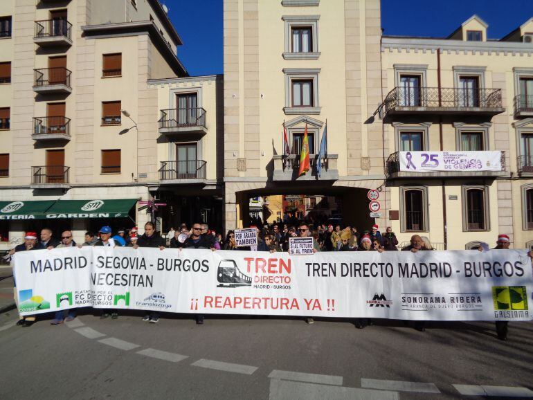
[[[298,176],[300,170],[300,154],[275,155],[273,181],[336,181],[338,179],[338,154],[327,154],[320,160],[321,172],[316,171],[317,154],[309,154],[309,172]]]

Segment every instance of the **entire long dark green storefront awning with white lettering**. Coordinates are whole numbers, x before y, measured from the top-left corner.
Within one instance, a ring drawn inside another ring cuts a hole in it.
[[[127,218],[137,199],[0,201],[2,219]]]

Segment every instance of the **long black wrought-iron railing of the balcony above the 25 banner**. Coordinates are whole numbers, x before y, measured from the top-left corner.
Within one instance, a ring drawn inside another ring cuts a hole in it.
[[[442,109],[500,109],[500,89],[462,89],[437,87],[395,87],[385,98],[385,112],[399,107]]]

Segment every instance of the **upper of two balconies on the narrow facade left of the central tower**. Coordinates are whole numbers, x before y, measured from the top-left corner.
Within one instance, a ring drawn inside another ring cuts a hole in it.
[[[206,110],[201,107],[161,110],[159,134],[204,136],[207,134]]]

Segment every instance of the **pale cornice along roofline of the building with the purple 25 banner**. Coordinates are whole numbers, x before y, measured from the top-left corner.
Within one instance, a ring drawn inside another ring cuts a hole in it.
[[[381,51],[388,49],[401,49],[406,51],[431,51],[434,53],[440,48],[442,51],[451,53],[459,52],[479,52],[479,53],[526,53],[532,54],[533,47],[531,44],[521,42],[466,42],[463,40],[451,39],[422,39],[419,37],[387,37],[381,38]]]

